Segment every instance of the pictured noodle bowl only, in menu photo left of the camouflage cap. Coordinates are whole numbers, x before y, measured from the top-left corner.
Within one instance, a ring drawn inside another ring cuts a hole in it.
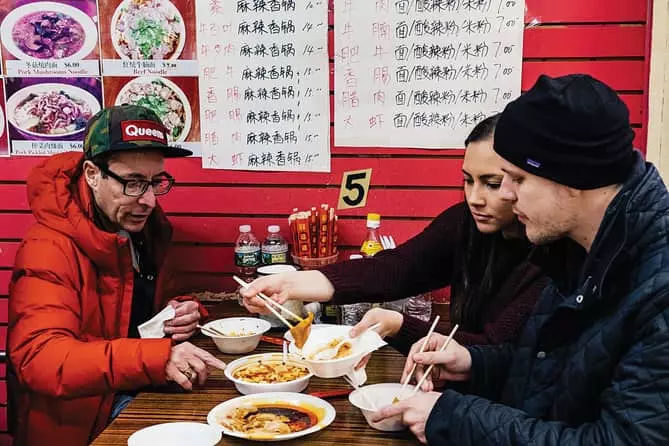
[[[19,132],[41,138],[70,137],[86,128],[100,103],[86,90],[68,84],[25,87],[7,100],[7,118]]]

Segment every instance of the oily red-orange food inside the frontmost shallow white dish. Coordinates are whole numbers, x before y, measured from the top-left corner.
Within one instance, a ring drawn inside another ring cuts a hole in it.
[[[318,416],[307,408],[290,404],[245,404],[219,419],[232,431],[248,435],[282,435],[309,429]]]

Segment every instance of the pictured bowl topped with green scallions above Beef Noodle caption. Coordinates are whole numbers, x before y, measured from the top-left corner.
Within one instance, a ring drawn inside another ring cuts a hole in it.
[[[176,59],[183,51],[183,17],[168,0],[124,0],[111,20],[112,43],[121,59]]]

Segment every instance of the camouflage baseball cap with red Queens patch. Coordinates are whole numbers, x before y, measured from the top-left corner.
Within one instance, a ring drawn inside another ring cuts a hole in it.
[[[160,150],[165,158],[193,152],[167,143],[168,130],[158,115],[139,105],[115,105],[95,114],[86,126],[84,154],[87,159],[124,150]]]

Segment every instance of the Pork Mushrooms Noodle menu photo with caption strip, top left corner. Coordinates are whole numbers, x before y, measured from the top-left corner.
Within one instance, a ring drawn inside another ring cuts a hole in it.
[[[7,76],[100,74],[95,0],[2,0],[0,20]]]

